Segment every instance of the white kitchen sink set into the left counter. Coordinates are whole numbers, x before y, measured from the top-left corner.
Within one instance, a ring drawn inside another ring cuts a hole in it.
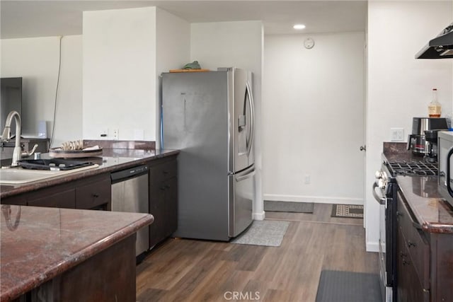
[[[82,170],[97,168],[98,166],[99,165],[94,164],[72,170],[30,170],[21,167],[0,169],[0,183],[11,185],[23,184],[48,178],[56,178]]]

